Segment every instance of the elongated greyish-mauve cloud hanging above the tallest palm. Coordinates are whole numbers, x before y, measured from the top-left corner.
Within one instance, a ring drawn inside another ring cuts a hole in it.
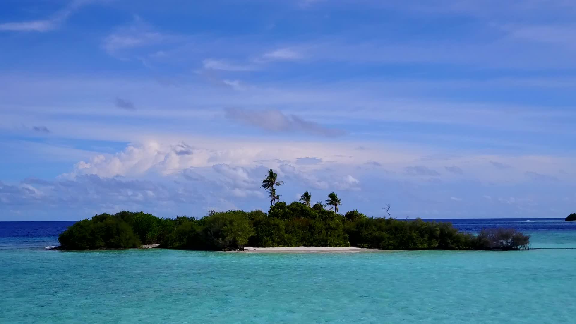
[[[313,135],[340,136],[347,131],[331,129],[297,115],[285,115],[279,110],[242,110],[226,108],[226,118],[268,131],[301,132]]]

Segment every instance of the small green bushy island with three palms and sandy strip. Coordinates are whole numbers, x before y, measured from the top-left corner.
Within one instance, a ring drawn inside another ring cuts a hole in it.
[[[300,201],[279,201],[283,184],[270,169],[262,188],[270,194],[262,210],[208,212],[202,218],[158,218],[143,212],[98,214],[78,221],[59,235],[58,250],[160,248],[231,251],[246,247],[357,247],[378,250],[528,250],[529,235],[515,229],[483,229],[474,235],[447,222],[367,217],[352,210],[339,214],[342,199],[332,191],[312,204],[306,191]],[[329,208],[327,209],[327,207]],[[385,208],[388,212],[390,206]]]

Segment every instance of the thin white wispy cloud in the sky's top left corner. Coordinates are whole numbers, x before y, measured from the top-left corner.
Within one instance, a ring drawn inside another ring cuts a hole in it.
[[[43,20],[4,22],[0,31],[12,32],[49,32],[59,28],[79,7],[92,2],[91,0],[74,0],[52,17]]]

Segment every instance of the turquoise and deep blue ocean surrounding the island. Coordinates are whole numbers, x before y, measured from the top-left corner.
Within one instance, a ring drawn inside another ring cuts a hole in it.
[[[74,222],[0,222],[0,323],[573,323],[576,222],[529,251],[51,251]]]

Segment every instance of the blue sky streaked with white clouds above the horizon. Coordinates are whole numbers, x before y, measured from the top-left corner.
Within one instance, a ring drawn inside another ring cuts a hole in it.
[[[576,212],[571,0],[3,0],[0,221],[304,191],[396,218]]]

